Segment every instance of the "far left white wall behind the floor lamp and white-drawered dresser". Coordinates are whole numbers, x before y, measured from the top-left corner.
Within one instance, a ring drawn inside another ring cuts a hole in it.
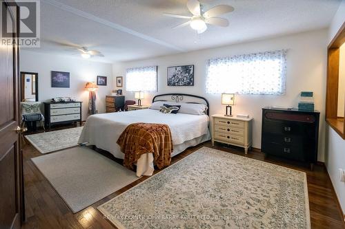
[[[96,82],[97,76],[108,76],[108,85],[99,86],[96,108],[99,113],[105,112],[106,95],[112,91],[112,65],[97,63],[79,58],[40,54],[21,50],[21,72],[39,74],[39,101],[55,97],[71,97],[82,103],[82,119],[88,116],[88,91],[84,89],[87,82]],[[51,71],[70,72],[70,88],[51,87]]]

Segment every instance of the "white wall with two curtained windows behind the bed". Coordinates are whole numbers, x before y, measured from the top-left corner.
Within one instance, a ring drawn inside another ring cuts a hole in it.
[[[254,118],[253,146],[261,148],[262,107],[277,105],[297,107],[300,91],[314,91],[315,109],[321,111],[319,135],[319,161],[324,161],[324,100],[326,85],[326,41],[327,30],[304,32],[276,39],[266,39],[239,45],[200,50],[184,54],[160,56],[143,61],[116,63],[113,65],[113,76],[126,76],[126,68],[145,65],[158,65],[158,94],[180,92],[205,96],[210,102],[210,114],[224,113],[220,94],[205,93],[206,60],[213,57],[250,54],[255,52],[288,49],[287,81],[285,96],[237,96],[234,113],[248,113]],[[166,84],[166,67],[174,65],[195,65],[194,87],[168,87]],[[124,80],[126,81],[126,80]],[[115,87],[115,85],[114,85]],[[124,87],[125,88],[125,87]],[[126,99],[134,98],[132,93],[124,91]],[[152,94],[146,94],[143,103],[150,103]]]

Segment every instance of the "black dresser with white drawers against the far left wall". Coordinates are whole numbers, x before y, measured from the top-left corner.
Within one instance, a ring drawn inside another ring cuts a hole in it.
[[[81,122],[81,102],[44,102],[46,127]]]

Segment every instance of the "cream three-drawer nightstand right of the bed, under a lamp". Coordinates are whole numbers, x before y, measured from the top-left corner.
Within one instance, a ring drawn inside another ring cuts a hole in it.
[[[215,142],[231,144],[244,148],[247,154],[252,146],[252,120],[253,118],[236,118],[215,114],[213,118],[212,145]]]

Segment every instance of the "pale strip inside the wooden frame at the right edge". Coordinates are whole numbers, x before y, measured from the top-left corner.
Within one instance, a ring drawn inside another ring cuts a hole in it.
[[[339,89],[338,89],[338,117],[345,113],[345,43],[340,47],[339,53]]]

